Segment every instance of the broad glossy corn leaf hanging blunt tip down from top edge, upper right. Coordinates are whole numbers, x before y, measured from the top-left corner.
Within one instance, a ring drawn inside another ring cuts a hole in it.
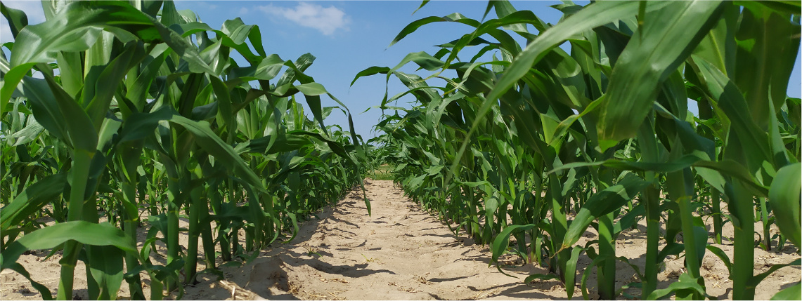
[[[646,21],[610,74],[599,113],[600,140],[618,142],[634,136],[651,110],[658,85],[718,22],[721,7],[715,1],[683,1],[646,13]]]

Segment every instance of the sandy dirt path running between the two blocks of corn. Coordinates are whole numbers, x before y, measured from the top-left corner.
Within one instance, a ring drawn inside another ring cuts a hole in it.
[[[557,280],[525,285],[537,268],[500,274],[489,255],[461,241],[391,181],[366,183],[302,225],[290,244],[199,283],[184,299],[565,299]]]

